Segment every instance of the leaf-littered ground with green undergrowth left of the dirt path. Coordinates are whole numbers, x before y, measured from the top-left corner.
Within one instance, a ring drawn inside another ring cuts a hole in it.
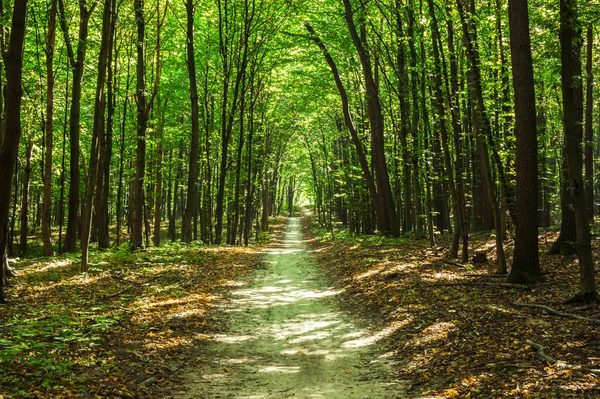
[[[12,262],[0,399],[163,397],[205,337],[225,328],[216,304],[262,267],[267,245],[94,250],[87,273],[79,254]]]

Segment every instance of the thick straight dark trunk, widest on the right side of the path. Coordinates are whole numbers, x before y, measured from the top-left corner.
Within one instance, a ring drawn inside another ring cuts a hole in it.
[[[517,226],[513,265],[508,281],[542,280],[538,254],[538,148],[535,83],[529,38],[527,0],[508,1],[517,139]]]

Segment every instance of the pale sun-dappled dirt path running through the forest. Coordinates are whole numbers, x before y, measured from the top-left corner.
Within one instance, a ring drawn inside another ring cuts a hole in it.
[[[303,243],[300,219],[266,250],[268,268],[233,294],[229,332],[183,372],[184,398],[400,398],[376,339],[340,309]]]

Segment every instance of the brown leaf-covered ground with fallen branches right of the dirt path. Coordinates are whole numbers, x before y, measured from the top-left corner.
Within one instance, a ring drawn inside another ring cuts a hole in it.
[[[304,227],[345,306],[378,324],[380,344],[411,381],[406,397],[600,397],[600,308],[561,304],[576,292],[579,274],[575,256],[547,254],[556,232],[540,236],[544,283],[520,287],[491,276],[489,235],[471,243],[471,253],[485,250],[488,262],[462,265],[446,258],[443,237],[432,249],[425,240],[347,232],[332,239],[310,218]],[[600,241],[593,246],[599,259]],[[510,265],[510,242],[507,255]]]

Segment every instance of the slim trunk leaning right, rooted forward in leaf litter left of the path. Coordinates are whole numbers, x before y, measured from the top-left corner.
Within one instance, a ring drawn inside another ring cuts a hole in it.
[[[102,36],[100,39],[100,53],[98,55],[98,79],[96,81],[96,99],[94,101],[94,127],[92,131],[92,144],[90,148],[90,167],[88,169],[85,203],[83,206],[81,223],[81,271],[88,270],[88,250],[92,227],[92,213],[94,211],[94,188],[98,176],[98,157],[100,137],[105,134],[104,117],[106,111],[106,73],[108,69],[108,52],[110,50],[110,21],[111,0],[104,0],[102,15]]]

